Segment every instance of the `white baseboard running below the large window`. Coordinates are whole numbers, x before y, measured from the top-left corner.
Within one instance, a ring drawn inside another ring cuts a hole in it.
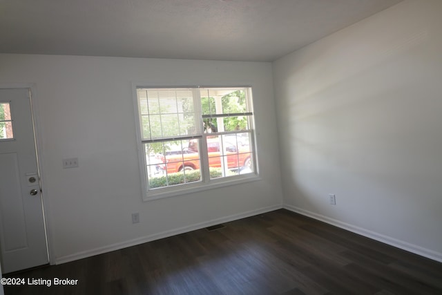
[[[168,238],[170,236],[175,236],[178,234],[184,234],[186,232],[189,231],[194,231],[196,229],[203,229],[204,227],[210,227],[212,225],[218,225],[222,222],[229,222],[229,221],[233,221],[233,220],[238,220],[238,219],[242,219],[242,218],[247,218],[250,216],[255,216],[258,214],[262,214],[262,213],[267,213],[270,211],[274,211],[274,210],[278,210],[278,209],[282,209],[282,204],[278,204],[278,205],[274,205],[271,207],[265,207],[265,208],[261,208],[261,209],[256,209],[256,210],[251,210],[251,211],[247,211],[247,212],[242,212],[242,213],[238,213],[238,214],[233,214],[231,216],[224,216],[222,218],[216,218],[213,220],[209,220],[206,222],[200,222],[194,225],[189,225],[186,227],[180,227],[178,229],[172,229],[170,231],[163,231],[161,233],[158,234],[152,234],[149,236],[144,236],[144,237],[140,237],[140,238],[135,238],[132,240],[127,240],[124,242],[117,242],[113,245],[108,245],[108,246],[104,246],[104,247],[98,247],[95,249],[90,249],[90,250],[86,250],[86,251],[81,251],[81,252],[77,252],[75,254],[70,254],[70,255],[66,255],[66,256],[61,256],[55,259],[55,264],[59,265],[61,263],[68,263],[70,261],[74,261],[74,260],[79,260],[82,258],[87,258],[90,256],[95,256],[98,254],[104,254],[106,252],[110,252],[110,251],[115,251],[115,250],[119,250],[119,249],[123,249],[126,247],[131,247],[131,246],[135,246],[135,245],[140,245],[144,242],[151,242],[153,240],[159,240],[160,238]]]

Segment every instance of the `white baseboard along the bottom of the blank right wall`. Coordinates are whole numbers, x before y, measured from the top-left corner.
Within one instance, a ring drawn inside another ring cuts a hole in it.
[[[396,238],[392,238],[390,236],[378,234],[374,231],[369,231],[368,229],[363,229],[362,227],[356,227],[355,225],[350,225],[349,223],[342,222],[342,221],[336,220],[334,218],[329,218],[327,216],[323,216],[318,213],[314,213],[311,211],[300,209],[298,207],[295,207],[295,206],[292,206],[289,204],[285,204],[283,207],[287,210],[294,211],[296,213],[300,213],[301,215],[308,216],[308,217],[314,218],[316,220],[326,222],[329,225],[334,225],[336,227],[340,227],[341,229],[347,229],[347,231],[352,231],[356,234],[360,234],[361,236],[365,236],[367,238],[372,238],[373,240],[378,240],[379,242],[383,242],[387,245],[391,245],[391,246],[397,247],[399,249],[403,249],[405,251],[409,251],[414,254],[442,262],[442,253],[432,251],[430,249],[426,249],[426,248],[423,248],[418,245],[413,245],[413,244],[410,244],[409,242],[404,242],[403,240],[397,240]]]

